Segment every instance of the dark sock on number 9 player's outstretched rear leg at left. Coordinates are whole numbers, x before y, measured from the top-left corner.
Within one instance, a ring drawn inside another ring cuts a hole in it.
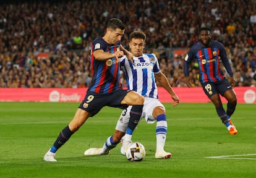
[[[73,132],[71,132],[71,130],[69,129],[69,126],[67,125],[67,127],[65,127],[61,133],[59,134],[59,137],[56,139],[56,141],[54,142],[53,146],[51,146],[51,152],[52,153],[56,153],[56,151],[61,148],[62,145],[64,145],[64,143],[67,142],[67,140],[69,140],[69,138],[71,137],[71,135],[74,134]]]

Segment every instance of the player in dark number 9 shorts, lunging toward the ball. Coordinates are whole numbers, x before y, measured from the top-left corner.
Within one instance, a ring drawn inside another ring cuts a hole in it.
[[[144,98],[135,91],[119,88],[119,57],[126,53],[132,61],[132,54],[120,44],[124,31],[125,25],[121,20],[111,19],[106,26],[105,35],[93,41],[91,51],[92,83],[75,112],[74,119],[61,131],[53,146],[45,154],[45,161],[56,161],[54,159],[56,151],[69,140],[72,134],[79,130],[88,117],[93,117],[104,106],[124,109],[128,105],[132,105],[127,134],[132,134],[137,126],[142,114]],[[108,150],[109,146],[111,148],[116,146],[117,143],[119,140],[109,137],[105,145],[106,149]]]

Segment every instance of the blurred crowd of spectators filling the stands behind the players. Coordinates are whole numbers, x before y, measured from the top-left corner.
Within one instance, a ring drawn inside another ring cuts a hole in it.
[[[127,25],[125,47],[130,32],[146,33],[145,53],[156,54],[173,87],[186,86],[186,53],[174,50],[189,49],[205,26],[226,48],[237,85],[256,86],[256,1],[105,0],[1,1],[0,88],[87,87],[90,45],[112,17]],[[195,86],[200,86],[197,64],[191,70]]]

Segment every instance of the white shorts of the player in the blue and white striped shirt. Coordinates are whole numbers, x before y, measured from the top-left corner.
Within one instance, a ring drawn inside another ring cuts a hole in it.
[[[163,104],[155,98],[148,98],[148,97],[144,97],[144,106],[143,106],[143,110],[142,110],[142,117],[145,119],[145,121],[148,124],[153,124],[156,119],[152,116],[152,112],[153,109],[155,109],[156,107],[161,106],[164,108]],[[127,129],[127,125],[130,119],[130,109],[132,108],[132,106],[129,106],[127,109],[124,109],[117,121],[116,124],[116,130],[119,130],[121,132],[126,132]],[[165,110],[165,108],[164,108]],[[141,118],[142,118],[141,117]],[[140,120],[141,120],[140,118]]]

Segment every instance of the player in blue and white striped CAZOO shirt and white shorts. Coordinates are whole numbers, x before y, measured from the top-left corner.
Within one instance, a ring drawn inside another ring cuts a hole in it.
[[[143,32],[135,31],[130,34],[129,47],[130,52],[134,56],[134,61],[128,61],[126,56],[121,57],[121,66],[126,75],[128,89],[134,90],[144,96],[142,117],[148,123],[154,123],[156,121],[155,158],[171,158],[171,153],[164,151],[167,134],[166,112],[163,104],[158,100],[156,81],[161,83],[164,89],[171,95],[174,101],[173,106],[179,104],[179,98],[173,91],[173,88],[171,88],[166,76],[161,72],[155,54],[143,54],[145,40],[146,35]],[[124,155],[129,143],[132,142],[132,135],[125,134],[127,126],[129,127],[130,109],[131,107],[129,106],[122,111],[117,121],[116,130],[113,136],[111,136],[116,138],[116,140],[121,140],[122,138],[122,155]],[[106,155],[108,151],[106,146],[103,145],[102,148],[89,148],[85,151],[85,155]]]

